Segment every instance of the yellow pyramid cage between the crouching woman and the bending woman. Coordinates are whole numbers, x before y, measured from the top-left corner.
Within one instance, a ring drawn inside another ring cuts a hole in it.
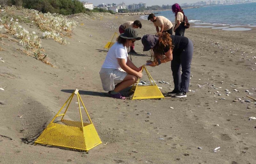
[[[151,75],[148,73],[148,70],[146,67],[143,65],[142,71],[145,70],[146,74],[148,75],[149,81],[151,85],[148,86],[138,86],[138,83],[140,79],[138,79],[137,84],[132,86],[131,91],[134,91],[133,97],[131,98],[132,100],[136,99],[157,99],[157,98],[164,98],[164,95],[162,92],[159,90],[157,87],[155,81],[151,77]],[[153,84],[152,84],[153,82]]]

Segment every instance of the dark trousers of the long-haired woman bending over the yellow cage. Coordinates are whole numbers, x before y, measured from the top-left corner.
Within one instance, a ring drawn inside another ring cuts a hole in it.
[[[193,56],[193,43],[189,40],[187,47],[180,54],[172,54],[172,76],[174,90],[188,92],[190,67]],[[180,65],[182,74],[180,72]]]

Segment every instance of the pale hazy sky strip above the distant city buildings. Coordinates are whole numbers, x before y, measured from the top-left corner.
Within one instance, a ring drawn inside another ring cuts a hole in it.
[[[125,2],[126,5],[131,5],[133,3],[146,3],[148,6],[152,6],[152,5],[159,5],[159,6],[162,6],[162,5],[173,5],[174,3],[194,3],[194,2],[198,2],[200,0],[180,0],[180,1],[177,1],[177,0],[174,0],[174,1],[170,1],[170,0],[157,0],[157,1],[150,1],[150,0],[129,0],[129,1],[125,1],[125,0],[80,0],[80,1],[88,1],[89,3],[93,3],[94,6],[97,6],[99,4],[102,4],[102,3],[116,3],[116,4],[119,4],[121,2]],[[206,0],[203,0],[203,1],[206,1]]]

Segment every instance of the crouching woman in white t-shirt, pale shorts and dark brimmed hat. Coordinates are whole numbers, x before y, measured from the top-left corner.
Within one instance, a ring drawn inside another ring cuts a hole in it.
[[[119,35],[117,42],[109,49],[100,70],[102,88],[109,91],[110,97],[125,99],[119,91],[131,86],[142,77],[141,67],[136,67],[128,58],[127,47],[140,40],[137,32],[129,27]]]

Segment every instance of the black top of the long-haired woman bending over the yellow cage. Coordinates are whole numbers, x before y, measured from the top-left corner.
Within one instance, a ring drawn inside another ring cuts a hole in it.
[[[176,36],[176,35],[170,35],[170,37],[172,38],[172,45],[174,46],[172,50],[172,54],[179,55],[187,46],[189,40],[187,37]],[[170,50],[169,46],[166,46],[164,48],[164,52],[168,52],[169,50]]]

